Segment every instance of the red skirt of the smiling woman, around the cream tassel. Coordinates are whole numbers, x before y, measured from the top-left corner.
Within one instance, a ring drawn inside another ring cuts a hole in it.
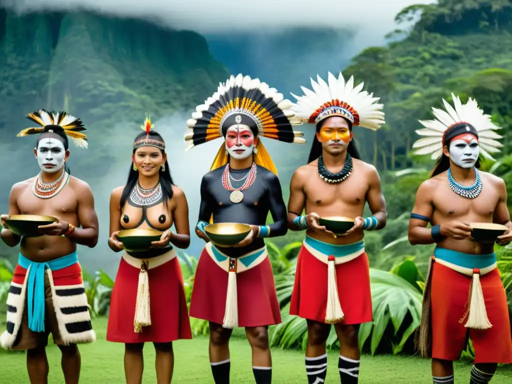
[[[150,265],[151,267],[151,265]],[[110,299],[106,339],[114,343],[169,343],[192,338],[178,257],[148,269],[151,325],[134,331],[140,268],[121,259]]]

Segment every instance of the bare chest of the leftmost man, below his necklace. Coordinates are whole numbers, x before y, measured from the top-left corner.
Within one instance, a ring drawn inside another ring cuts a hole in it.
[[[76,215],[78,207],[76,196],[69,185],[49,199],[36,197],[32,186],[27,186],[17,197],[16,203],[22,215],[47,215],[57,218]]]

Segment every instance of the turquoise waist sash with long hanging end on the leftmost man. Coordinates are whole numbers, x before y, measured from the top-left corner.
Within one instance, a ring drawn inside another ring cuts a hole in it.
[[[61,258],[46,263],[36,263],[27,259],[23,254],[18,256],[20,267],[29,269],[27,282],[27,303],[29,328],[34,332],[45,331],[45,270],[51,271],[70,267],[78,263],[78,254],[70,253]]]

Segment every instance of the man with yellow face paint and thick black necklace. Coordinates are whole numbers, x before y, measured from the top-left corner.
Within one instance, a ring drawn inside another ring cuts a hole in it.
[[[288,227],[306,229],[298,255],[290,314],[307,319],[306,373],[309,384],[325,382],[326,340],[334,324],[340,343],[338,370],[343,384],[357,383],[360,351],[358,329],[371,322],[372,297],[364,230],[386,225],[386,202],[377,170],[359,160],[353,125],[378,130],[384,123],[378,98],[329,73],[328,83],[311,80],[294,106],[296,116],[316,124],[308,164],[290,183]],[[363,218],[365,203],[372,217]],[[306,215],[303,215],[305,209]],[[336,236],[319,224],[321,217],[345,217],[353,227]],[[343,308],[343,309],[342,309]]]

